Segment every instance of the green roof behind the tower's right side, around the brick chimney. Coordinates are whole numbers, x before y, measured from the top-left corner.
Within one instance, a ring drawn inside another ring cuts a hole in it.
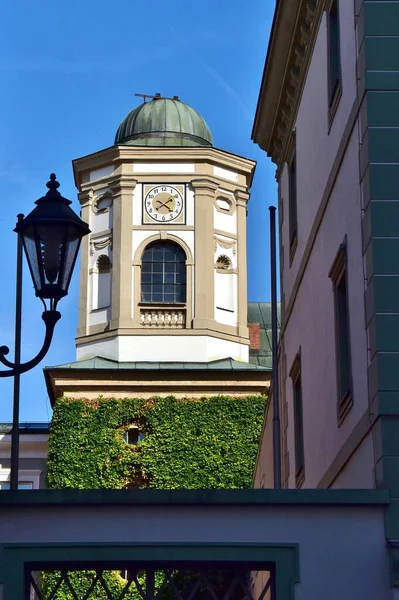
[[[280,304],[277,305],[278,334],[280,333]],[[249,362],[272,369],[272,304],[248,302],[248,323],[259,323],[260,349],[249,350]]]

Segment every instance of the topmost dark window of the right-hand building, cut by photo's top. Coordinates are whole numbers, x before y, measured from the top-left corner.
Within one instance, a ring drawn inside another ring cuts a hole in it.
[[[338,104],[342,96],[342,64],[340,41],[339,0],[330,0],[327,15],[327,94],[328,94],[328,132],[330,132]],[[335,35],[333,34],[335,29]],[[334,47],[333,47],[334,45]],[[333,66],[333,60],[336,65]],[[334,81],[332,80],[334,78]]]

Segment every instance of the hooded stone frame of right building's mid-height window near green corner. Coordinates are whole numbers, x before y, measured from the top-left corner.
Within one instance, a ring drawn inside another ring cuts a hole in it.
[[[334,262],[329,272],[329,277],[333,286],[334,295],[334,335],[335,335],[335,372],[337,381],[337,422],[338,427],[343,423],[345,417],[353,406],[353,383],[352,383],[352,355],[351,355],[351,337],[350,337],[350,318],[349,318],[349,287],[348,287],[348,260],[347,260],[347,238],[340,245],[335,256]],[[339,286],[345,285],[345,315],[342,315],[342,302],[338,296]],[[342,320],[345,320],[345,335],[342,335]],[[345,379],[348,389],[343,392],[342,377],[342,347],[346,340],[345,353],[347,355],[347,364]]]

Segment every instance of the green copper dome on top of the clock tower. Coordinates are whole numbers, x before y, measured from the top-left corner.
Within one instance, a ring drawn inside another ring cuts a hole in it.
[[[115,144],[212,146],[204,119],[177,98],[154,98],[134,108],[118,127]]]

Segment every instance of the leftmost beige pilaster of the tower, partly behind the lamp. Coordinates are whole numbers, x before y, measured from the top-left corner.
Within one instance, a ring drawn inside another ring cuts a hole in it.
[[[90,227],[90,217],[93,205],[93,190],[88,189],[78,194],[81,205],[81,218]],[[90,261],[90,238],[91,235],[85,235],[80,245],[80,293],[79,293],[79,321],[76,336],[82,337],[88,334],[88,314],[89,314],[89,261]]]

